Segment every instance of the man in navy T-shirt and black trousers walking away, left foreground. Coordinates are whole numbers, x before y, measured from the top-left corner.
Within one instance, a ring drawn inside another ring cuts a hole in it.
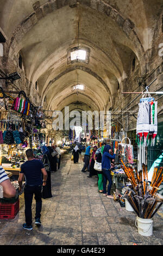
[[[18,177],[18,184],[20,191],[22,189],[23,177],[26,177],[26,186],[24,188],[24,200],[25,200],[25,216],[26,223],[23,224],[23,228],[32,230],[32,200],[35,195],[36,200],[36,214],[35,224],[41,225],[41,189],[42,186],[46,186],[47,172],[40,160],[34,158],[33,150],[26,150],[27,161],[21,165],[21,172]],[[43,174],[43,181],[42,181]]]

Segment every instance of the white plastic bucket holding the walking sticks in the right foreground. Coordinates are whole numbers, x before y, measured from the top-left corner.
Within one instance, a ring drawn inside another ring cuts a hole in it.
[[[136,217],[135,225],[136,225],[136,228],[138,228],[138,233],[140,235],[142,236],[153,235],[153,219],[142,219],[142,218]]]

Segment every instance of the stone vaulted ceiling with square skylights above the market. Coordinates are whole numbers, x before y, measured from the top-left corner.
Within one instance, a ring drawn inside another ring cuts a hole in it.
[[[62,110],[106,110],[123,87],[131,58],[152,47],[162,0],[1,0],[0,27],[9,55],[21,52],[28,92]],[[89,49],[89,62],[68,62],[68,50]],[[76,93],[72,87],[83,84]],[[73,106],[72,106],[73,105]],[[83,107],[84,106],[84,107]]]

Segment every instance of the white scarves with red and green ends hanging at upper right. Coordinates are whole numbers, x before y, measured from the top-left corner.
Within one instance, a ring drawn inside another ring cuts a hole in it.
[[[155,102],[154,98],[151,97],[148,89],[144,96],[146,94],[148,94],[148,97],[140,100],[137,116],[136,135],[139,146],[154,145],[155,136],[158,132],[158,102]]]

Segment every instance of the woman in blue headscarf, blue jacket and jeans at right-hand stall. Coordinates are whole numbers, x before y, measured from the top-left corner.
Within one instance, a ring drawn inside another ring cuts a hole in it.
[[[110,173],[111,163],[110,159],[115,159],[116,157],[116,148],[114,149],[114,154],[111,154],[111,147],[106,145],[103,150],[102,157],[102,171],[103,171],[103,195],[107,198],[114,199],[114,197],[110,194],[111,185],[112,185],[112,177]],[[106,193],[106,183],[109,181],[108,185],[108,194]]]

